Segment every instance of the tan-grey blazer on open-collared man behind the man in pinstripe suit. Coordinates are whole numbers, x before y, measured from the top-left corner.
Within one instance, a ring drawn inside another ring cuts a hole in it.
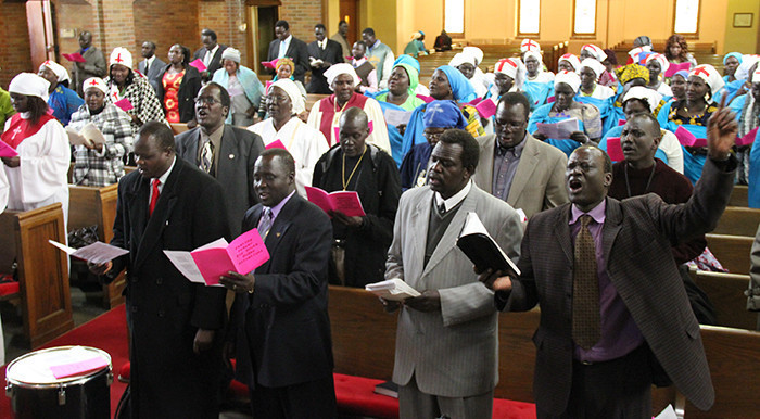
[[[568,202],[565,168],[568,157],[556,147],[539,141],[525,132],[525,147],[509,188],[507,203],[521,208],[528,218],[544,210]],[[476,183],[493,192],[494,150],[496,135],[477,138],[480,143],[480,163],[473,176]]]

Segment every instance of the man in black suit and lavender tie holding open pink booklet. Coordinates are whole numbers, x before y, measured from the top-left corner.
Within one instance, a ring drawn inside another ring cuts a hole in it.
[[[334,418],[327,269],[332,229],[324,211],[295,193],[295,163],[283,149],[256,161],[261,204],[243,230],[258,229],[269,261],[253,272],[229,272],[236,292],[226,355],[249,385],[255,418]],[[237,348],[237,351],[235,351]]]

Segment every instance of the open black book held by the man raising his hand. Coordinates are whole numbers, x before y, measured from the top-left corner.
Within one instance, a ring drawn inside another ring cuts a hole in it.
[[[476,213],[467,214],[465,226],[461,228],[456,245],[465,252],[480,271],[491,268],[494,271],[501,270],[511,278],[520,276],[520,269],[489,234],[489,231]]]

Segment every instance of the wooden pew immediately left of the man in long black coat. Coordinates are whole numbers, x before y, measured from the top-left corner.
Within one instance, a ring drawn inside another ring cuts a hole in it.
[[[118,183],[103,188],[68,186],[68,229],[98,226],[98,240],[109,243],[113,239],[116,217]],[[122,292],[126,287],[124,272],[110,284],[103,285],[103,306],[111,309],[124,303]]]

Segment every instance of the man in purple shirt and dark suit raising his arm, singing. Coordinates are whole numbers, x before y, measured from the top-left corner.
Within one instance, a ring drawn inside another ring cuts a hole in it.
[[[709,163],[682,205],[654,194],[608,198],[609,157],[595,147],[577,149],[566,170],[570,204],[530,219],[521,276],[481,274],[499,309],[541,305],[539,418],[650,417],[651,384],[669,381],[696,407],[712,406],[699,325],[670,251],[713,229],[731,194],[734,114],[721,104],[707,131]]]

